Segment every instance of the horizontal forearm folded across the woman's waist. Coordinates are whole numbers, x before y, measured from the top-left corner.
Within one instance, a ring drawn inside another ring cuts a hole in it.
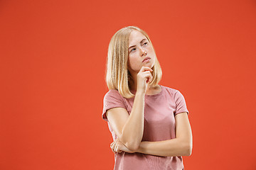
[[[141,142],[137,152],[161,157],[178,157],[191,155],[192,144],[185,140],[174,138],[159,142]]]

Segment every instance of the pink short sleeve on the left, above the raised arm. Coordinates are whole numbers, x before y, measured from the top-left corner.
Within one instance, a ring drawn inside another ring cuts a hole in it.
[[[126,108],[124,98],[114,89],[110,89],[103,99],[102,118],[106,121],[108,121],[106,112],[110,108]]]

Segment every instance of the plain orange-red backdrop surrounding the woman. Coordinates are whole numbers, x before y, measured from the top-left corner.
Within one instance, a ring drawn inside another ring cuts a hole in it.
[[[1,1],[0,169],[112,169],[107,47],[146,30],[193,132],[185,169],[256,169],[256,3]]]

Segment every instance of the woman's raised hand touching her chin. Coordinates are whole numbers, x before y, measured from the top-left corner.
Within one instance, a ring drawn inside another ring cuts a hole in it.
[[[146,94],[146,88],[153,79],[151,72],[153,72],[153,69],[144,66],[139,70],[137,74],[137,91],[142,91],[142,93]]]

